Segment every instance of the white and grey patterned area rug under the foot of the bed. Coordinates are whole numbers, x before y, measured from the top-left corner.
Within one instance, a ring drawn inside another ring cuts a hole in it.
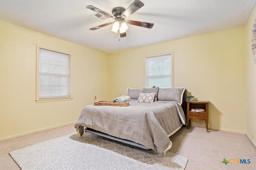
[[[91,133],[70,134],[10,152],[24,170],[184,170],[183,156],[157,154]]]

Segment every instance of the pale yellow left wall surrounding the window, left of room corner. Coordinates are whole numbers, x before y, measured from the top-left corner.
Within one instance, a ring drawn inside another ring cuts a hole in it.
[[[5,21],[0,37],[0,140],[72,123],[94,95],[108,98],[107,54]],[[73,100],[35,102],[36,44],[71,54]]]

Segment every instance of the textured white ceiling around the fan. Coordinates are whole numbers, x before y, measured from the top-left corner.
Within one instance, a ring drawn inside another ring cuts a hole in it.
[[[111,14],[133,0],[0,0],[0,20],[71,41],[105,53],[116,53],[192,35],[245,25],[256,0],[141,0],[144,6],[126,20],[154,23],[152,29],[129,25],[127,36],[115,37],[114,21],[97,21],[93,5]],[[119,41],[120,39],[120,41]]]

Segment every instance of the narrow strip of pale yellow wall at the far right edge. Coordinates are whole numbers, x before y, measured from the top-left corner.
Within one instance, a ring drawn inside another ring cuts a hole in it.
[[[252,27],[256,17],[256,7],[245,26],[246,42],[246,134],[256,147],[256,64],[252,59]]]

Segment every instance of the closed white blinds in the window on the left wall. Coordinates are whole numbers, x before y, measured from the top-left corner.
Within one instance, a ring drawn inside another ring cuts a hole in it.
[[[39,49],[38,98],[70,97],[70,55]]]

